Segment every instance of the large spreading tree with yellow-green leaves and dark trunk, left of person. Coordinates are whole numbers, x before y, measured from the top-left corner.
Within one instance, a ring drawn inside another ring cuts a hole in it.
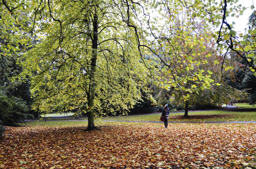
[[[44,36],[22,63],[31,77],[34,109],[79,108],[88,115],[87,129],[94,129],[95,108],[106,114],[132,107],[147,80],[132,12],[120,1],[41,2],[33,3],[39,5],[35,14],[44,16],[35,23]]]

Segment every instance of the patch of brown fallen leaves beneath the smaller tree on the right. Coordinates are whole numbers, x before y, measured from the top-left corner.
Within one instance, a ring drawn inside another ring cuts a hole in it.
[[[234,114],[193,114],[184,117],[184,115],[169,116],[170,119],[217,119],[232,117]]]

